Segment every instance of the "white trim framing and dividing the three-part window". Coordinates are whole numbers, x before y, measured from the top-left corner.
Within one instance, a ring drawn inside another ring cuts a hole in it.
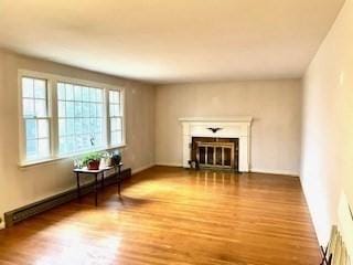
[[[33,78],[43,78],[47,81],[47,109],[49,109],[49,117],[50,117],[50,145],[51,145],[51,157],[47,159],[40,159],[40,160],[25,160],[25,131],[23,126],[23,117],[22,117],[22,77],[33,77]],[[76,152],[76,153],[68,153],[68,155],[58,155],[58,117],[57,117],[57,98],[56,98],[56,89],[57,83],[72,83],[77,85],[97,87],[104,89],[104,134],[106,139],[106,146],[104,148],[98,148],[95,150]],[[122,104],[122,139],[120,145],[110,145],[110,123],[109,123],[109,91],[119,91],[121,93],[121,104]],[[117,87],[105,83],[97,83],[92,81],[78,80],[62,75],[29,71],[29,70],[19,70],[18,71],[18,106],[19,106],[19,167],[30,167],[41,163],[53,162],[63,159],[73,159],[78,156],[85,155],[92,151],[105,151],[105,150],[113,150],[126,147],[126,99],[125,99],[125,88]]]

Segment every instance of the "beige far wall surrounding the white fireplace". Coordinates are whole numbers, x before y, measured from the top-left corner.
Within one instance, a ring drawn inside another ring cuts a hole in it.
[[[253,116],[252,169],[299,174],[301,82],[249,81],[157,87],[156,160],[182,165],[181,117]]]

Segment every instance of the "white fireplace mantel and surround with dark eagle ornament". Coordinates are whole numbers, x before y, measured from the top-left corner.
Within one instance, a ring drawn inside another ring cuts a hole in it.
[[[192,137],[238,138],[239,171],[250,169],[250,127],[253,117],[188,117],[180,118],[183,134],[183,167],[189,168]],[[221,128],[213,132],[208,128]]]

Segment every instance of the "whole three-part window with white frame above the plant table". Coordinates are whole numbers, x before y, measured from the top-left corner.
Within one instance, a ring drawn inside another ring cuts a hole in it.
[[[122,89],[31,72],[20,80],[22,165],[124,146]]]

